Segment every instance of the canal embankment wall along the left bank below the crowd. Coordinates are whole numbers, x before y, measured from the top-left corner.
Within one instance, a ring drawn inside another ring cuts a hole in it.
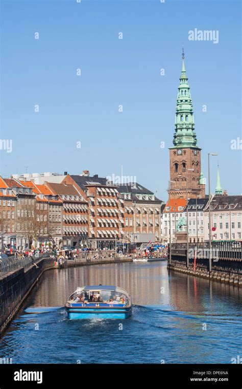
[[[82,255],[79,255],[76,260],[65,261],[64,267],[131,261],[131,257],[124,256],[93,259],[91,256],[82,257]],[[36,260],[35,265],[33,264],[27,270],[21,267],[7,274],[1,275],[0,273],[0,335],[5,332],[43,272],[48,269],[54,269],[54,260],[42,257]],[[62,270],[60,269],[60,271]]]

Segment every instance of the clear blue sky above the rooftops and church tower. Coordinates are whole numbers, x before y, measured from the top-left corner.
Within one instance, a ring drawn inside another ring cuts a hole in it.
[[[240,194],[242,151],[231,150],[231,140],[242,139],[240,7],[232,0],[3,0],[1,139],[12,139],[13,151],[0,151],[1,175],[28,166],[105,177],[123,165],[125,176],[166,200],[184,46],[204,176],[207,153],[218,153],[223,189]],[[195,28],[219,30],[219,43],[188,40]],[[216,164],[212,157],[213,191]]]

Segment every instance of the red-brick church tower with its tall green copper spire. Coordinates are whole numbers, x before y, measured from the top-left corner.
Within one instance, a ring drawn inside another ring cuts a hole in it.
[[[205,197],[201,172],[201,148],[197,146],[190,88],[182,51],[182,72],[178,87],[175,133],[170,147],[171,199]]]

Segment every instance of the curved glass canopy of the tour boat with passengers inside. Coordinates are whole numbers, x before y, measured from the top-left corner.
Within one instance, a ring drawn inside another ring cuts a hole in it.
[[[124,293],[110,290],[83,290],[73,293],[68,302],[106,302],[109,304],[128,304]]]

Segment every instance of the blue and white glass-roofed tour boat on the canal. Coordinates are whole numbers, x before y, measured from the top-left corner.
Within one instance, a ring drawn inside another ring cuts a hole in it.
[[[132,314],[131,296],[110,285],[77,288],[65,304],[69,319],[127,319]]]

